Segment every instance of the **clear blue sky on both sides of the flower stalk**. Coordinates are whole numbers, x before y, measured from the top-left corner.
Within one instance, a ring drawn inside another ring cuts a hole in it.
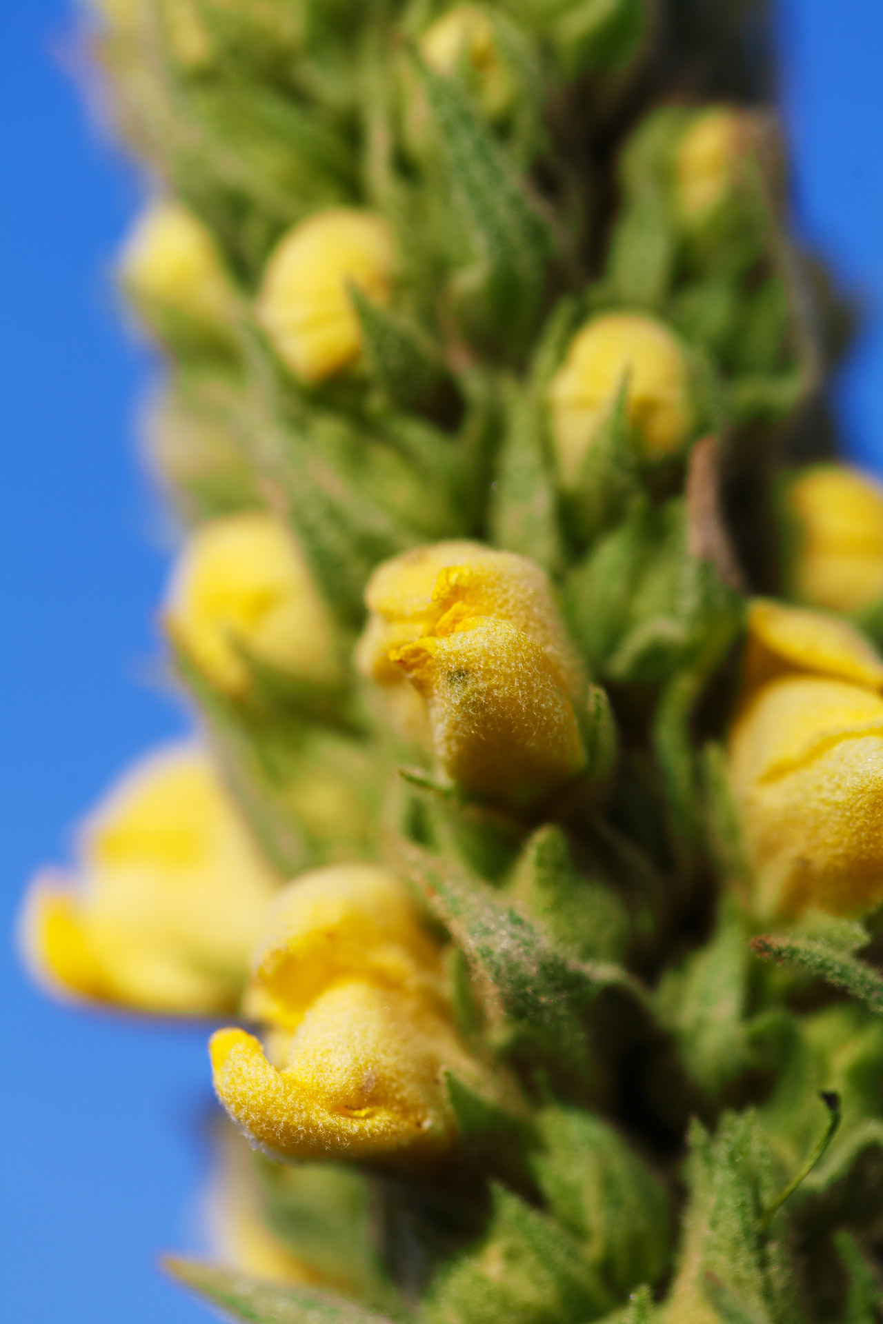
[[[132,446],[151,369],[107,278],[138,183],[89,120],[66,4],[1,3],[0,1300],[17,1324],[195,1324],[154,1266],[199,1247],[204,1030],[60,1009],[3,936],[83,808],[185,719],[156,679],[165,555]],[[883,470],[883,7],[778,15],[798,225],[871,314],[845,445]]]

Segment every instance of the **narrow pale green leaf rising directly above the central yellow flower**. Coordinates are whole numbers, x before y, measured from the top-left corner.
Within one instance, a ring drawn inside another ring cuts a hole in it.
[[[564,560],[555,483],[545,448],[545,408],[535,395],[507,383],[506,424],[490,506],[496,547],[530,556],[555,575]]]

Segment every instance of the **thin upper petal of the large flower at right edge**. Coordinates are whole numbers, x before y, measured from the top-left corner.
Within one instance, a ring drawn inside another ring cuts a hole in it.
[[[812,671],[883,688],[883,659],[846,621],[823,612],[756,598],[748,613],[747,685],[782,671]]]

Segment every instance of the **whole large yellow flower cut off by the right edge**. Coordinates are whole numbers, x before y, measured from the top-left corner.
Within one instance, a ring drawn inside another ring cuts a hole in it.
[[[763,920],[883,900],[883,663],[860,634],[757,602],[729,769]],[[752,657],[752,651],[753,657]]]

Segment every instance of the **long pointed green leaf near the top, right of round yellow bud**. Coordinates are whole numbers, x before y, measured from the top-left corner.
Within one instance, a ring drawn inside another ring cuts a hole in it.
[[[518,350],[540,312],[552,236],[516,171],[455,78],[417,62],[445,147],[454,200],[481,262],[495,335]]]

